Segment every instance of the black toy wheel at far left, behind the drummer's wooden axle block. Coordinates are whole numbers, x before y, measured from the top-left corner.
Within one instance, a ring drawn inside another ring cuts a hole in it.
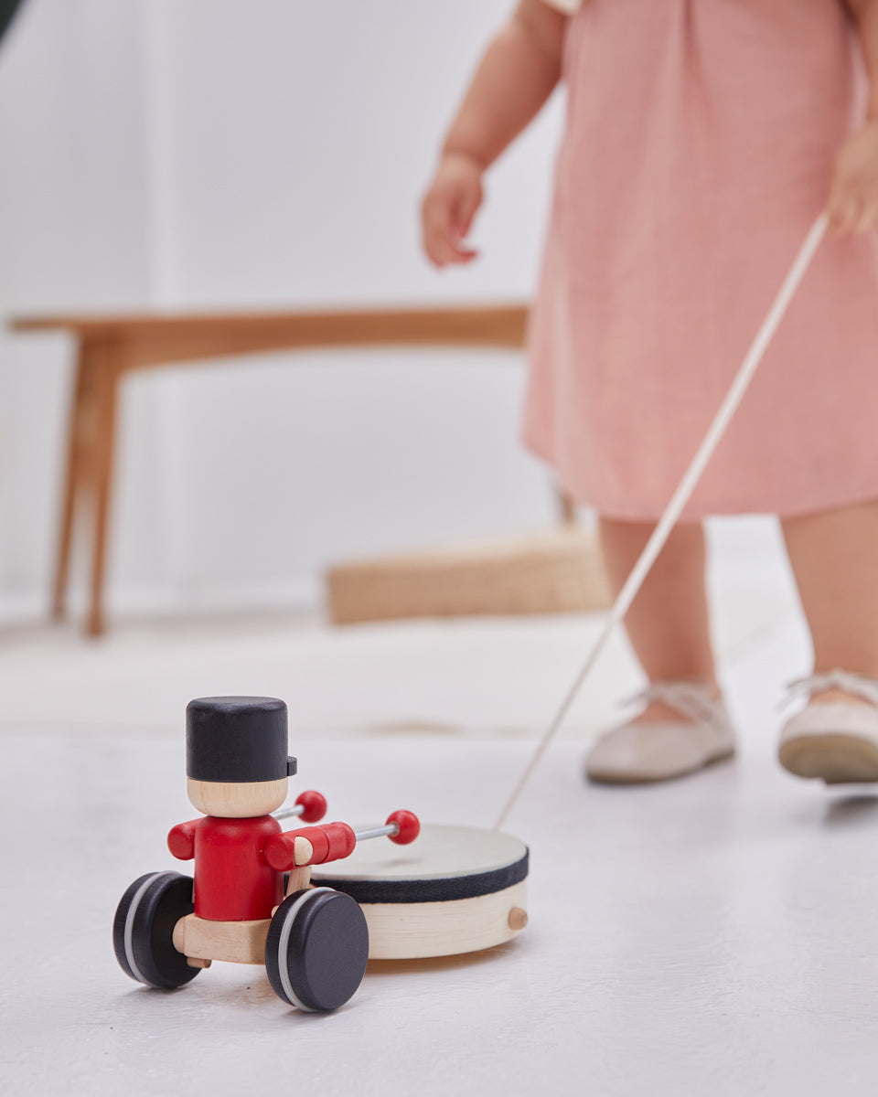
[[[191,877],[147,872],[135,880],[113,919],[113,950],[125,974],[165,991],[193,980],[201,969],[173,947],[173,927],[193,909]]]

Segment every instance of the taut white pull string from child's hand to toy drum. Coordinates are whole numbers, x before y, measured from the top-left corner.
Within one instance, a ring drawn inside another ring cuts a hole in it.
[[[652,536],[646,542],[646,546],[641,553],[640,558],[631,568],[631,574],[628,576],[624,581],[624,586],[619,591],[604,627],[592,647],[592,651],[588,653],[588,657],[583,664],[582,669],[576,675],[573,685],[569,689],[564,700],[561,702],[561,705],[551,723],[543,732],[539,743],[537,744],[537,749],[533,751],[533,755],[525,768],[518,783],[513,790],[511,795],[506,801],[497,822],[494,824],[495,830],[498,830],[506,822],[506,817],[515,806],[518,798],[521,795],[525,785],[530,780],[531,774],[539,765],[547,747],[554,738],[554,735],[561,724],[564,722],[564,717],[566,716],[570,706],[576,699],[576,694],[579,692],[583,682],[588,677],[595,663],[597,663],[598,656],[603,652],[610,634],[628,612],[631,607],[631,602],[634,600],[638,591],[643,585],[643,580],[649,575],[650,568],[655,563],[656,557],[664,547],[664,543],[667,540],[671,530],[674,528],[674,523],[679,518],[683,508],[688,502],[689,497],[698,484],[698,480],[701,478],[705,466],[713,455],[713,451],[717,449],[720,439],[725,432],[729,421],[738,409],[738,405],[741,403],[750,382],[753,380],[753,374],[756,372],[768,343],[772,341],[775,332],[777,331],[778,326],[784,318],[784,314],[787,310],[787,306],[799,287],[799,283],[801,282],[804,272],[808,270],[820,241],[823,239],[826,231],[828,220],[829,218],[826,214],[821,214],[809,230],[808,236],[804,239],[804,244],[802,244],[798,256],[793,260],[789,273],[784,280],[784,284],[780,286],[777,297],[775,298],[775,303],[772,305],[768,315],[765,317],[762,327],[756,333],[756,338],[753,340],[741,367],[732,381],[729,392],[720,405],[720,409],[717,412],[713,422],[710,425],[707,434],[705,434],[703,441],[698,446],[698,450],[696,451],[689,467],[686,470],[679,486],[671,497],[671,502],[668,502],[667,509],[664,514],[662,514],[658,523],[653,530]]]

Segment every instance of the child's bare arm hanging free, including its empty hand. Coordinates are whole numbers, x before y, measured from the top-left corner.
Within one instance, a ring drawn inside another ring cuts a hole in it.
[[[545,0],[519,0],[485,52],[421,205],[424,250],[437,267],[475,257],[463,241],[482,204],[482,174],[552,93],[566,23]]]

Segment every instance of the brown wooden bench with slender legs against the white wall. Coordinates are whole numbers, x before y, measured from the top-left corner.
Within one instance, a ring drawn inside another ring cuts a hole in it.
[[[53,315],[13,319],[15,331],[65,331],[77,343],[53,612],[66,612],[77,520],[90,524],[86,631],[104,631],[103,588],[119,391],[135,370],[316,347],[431,346],[520,349],[527,306],[295,313]],[[567,517],[572,513],[564,502]]]

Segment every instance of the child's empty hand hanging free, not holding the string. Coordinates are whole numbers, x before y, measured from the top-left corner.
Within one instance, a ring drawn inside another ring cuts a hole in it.
[[[437,267],[469,263],[479,255],[465,244],[482,204],[482,168],[463,152],[446,152],[420,206],[424,250]]]

